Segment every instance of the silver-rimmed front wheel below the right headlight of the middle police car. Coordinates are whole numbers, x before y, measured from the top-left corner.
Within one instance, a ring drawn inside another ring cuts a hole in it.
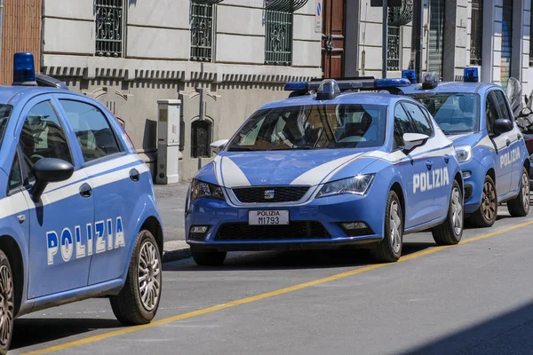
[[[383,240],[370,250],[379,262],[392,263],[402,256],[403,211],[398,195],[390,191],[386,199]]]

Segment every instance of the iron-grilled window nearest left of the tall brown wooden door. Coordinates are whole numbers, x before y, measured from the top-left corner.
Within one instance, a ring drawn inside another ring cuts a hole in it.
[[[265,64],[292,64],[292,12],[265,10]]]

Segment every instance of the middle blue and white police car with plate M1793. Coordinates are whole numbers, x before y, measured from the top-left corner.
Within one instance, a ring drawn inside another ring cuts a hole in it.
[[[438,244],[463,233],[463,178],[451,140],[407,79],[287,83],[289,99],[251,115],[191,182],[186,240],[196,264],[228,251],[367,244],[380,261],[404,233]],[[342,91],[342,92],[341,92]]]

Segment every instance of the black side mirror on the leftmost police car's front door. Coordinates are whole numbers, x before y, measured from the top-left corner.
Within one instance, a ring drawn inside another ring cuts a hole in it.
[[[36,177],[36,184],[31,189],[31,194],[33,201],[38,202],[46,185],[72,177],[74,167],[61,159],[43,158],[35,163],[32,171]]]

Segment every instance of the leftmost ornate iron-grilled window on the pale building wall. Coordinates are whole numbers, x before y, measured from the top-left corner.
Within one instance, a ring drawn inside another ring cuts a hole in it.
[[[96,0],[96,55],[123,56],[123,0]]]

